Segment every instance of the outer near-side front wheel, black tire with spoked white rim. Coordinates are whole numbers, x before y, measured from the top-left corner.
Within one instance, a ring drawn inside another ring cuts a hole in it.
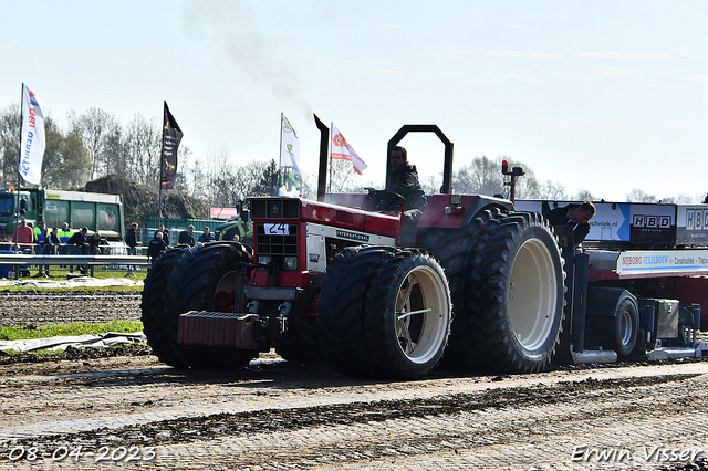
[[[417,379],[430,373],[451,321],[442,266],[426,251],[397,250],[376,268],[366,296],[366,343],[376,376]]]

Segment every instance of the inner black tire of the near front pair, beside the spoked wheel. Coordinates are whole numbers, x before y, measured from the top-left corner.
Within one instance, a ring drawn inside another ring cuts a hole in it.
[[[352,376],[369,376],[374,358],[366,345],[364,305],[374,270],[393,247],[350,247],[327,266],[317,300],[317,335],[324,359]]]

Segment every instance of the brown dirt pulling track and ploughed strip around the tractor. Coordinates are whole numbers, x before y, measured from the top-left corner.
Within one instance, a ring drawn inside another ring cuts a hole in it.
[[[0,293],[0,321],[139,318],[139,295],[101,294]],[[235,373],[145,346],[4,356],[0,469],[708,469],[707,386],[702,360],[402,383],[274,354]]]

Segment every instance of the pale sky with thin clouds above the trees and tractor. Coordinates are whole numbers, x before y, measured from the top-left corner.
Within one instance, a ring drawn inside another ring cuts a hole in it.
[[[65,125],[163,101],[202,160],[278,159],[285,114],[314,174],[316,113],[383,186],[386,144],[437,124],[455,168],[510,156],[566,192],[708,191],[705,1],[0,0],[0,107],[24,82]],[[425,178],[435,136],[403,143]],[[208,165],[208,164],[205,164]]]

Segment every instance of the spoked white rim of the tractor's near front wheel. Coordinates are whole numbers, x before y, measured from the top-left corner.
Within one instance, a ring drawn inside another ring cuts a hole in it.
[[[450,316],[448,290],[430,266],[416,266],[398,286],[396,338],[408,360],[424,364],[445,344]]]

